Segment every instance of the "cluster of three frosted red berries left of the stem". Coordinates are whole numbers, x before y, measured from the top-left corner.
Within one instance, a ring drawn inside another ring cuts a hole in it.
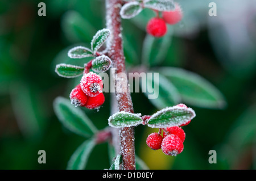
[[[100,107],[105,102],[102,93],[103,82],[100,75],[89,72],[82,76],[80,84],[70,93],[71,104],[88,109]]]

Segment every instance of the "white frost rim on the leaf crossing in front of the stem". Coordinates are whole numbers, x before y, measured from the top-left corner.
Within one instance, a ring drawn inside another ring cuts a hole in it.
[[[135,123],[133,122],[133,123],[130,123],[130,124],[125,124],[125,123],[113,124],[112,120],[114,119],[115,116],[117,116],[119,114],[124,114],[123,118],[126,118],[127,116],[131,115],[131,116],[135,116],[135,117],[141,119],[141,113],[130,113],[130,112],[125,112],[125,111],[116,112],[116,113],[114,113],[114,115],[110,116],[109,119],[108,119],[110,127],[114,127],[114,128],[134,127],[134,126],[137,126],[139,124],[142,124],[142,122],[143,122],[143,120],[141,119],[141,121],[136,121]]]

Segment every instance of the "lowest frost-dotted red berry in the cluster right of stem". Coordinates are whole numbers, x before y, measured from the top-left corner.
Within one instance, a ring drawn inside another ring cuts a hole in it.
[[[175,134],[169,134],[163,138],[162,151],[166,155],[176,156],[183,151],[183,142]]]

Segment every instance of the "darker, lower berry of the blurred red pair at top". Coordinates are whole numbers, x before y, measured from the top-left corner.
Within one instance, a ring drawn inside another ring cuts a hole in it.
[[[155,37],[161,37],[166,35],[167,32],[167,26],[166,22],[162,18],[152,18],[147,23],[146,27],[147,33],[155,36]]]

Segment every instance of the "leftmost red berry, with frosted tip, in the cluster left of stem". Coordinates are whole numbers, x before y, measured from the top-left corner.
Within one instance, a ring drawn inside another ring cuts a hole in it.
[[[71,104],[77,106],[85,106],[87,102],[87,96],[81,89],[80,85],[77,85],[69,94],[69,98],[71,99]]]

